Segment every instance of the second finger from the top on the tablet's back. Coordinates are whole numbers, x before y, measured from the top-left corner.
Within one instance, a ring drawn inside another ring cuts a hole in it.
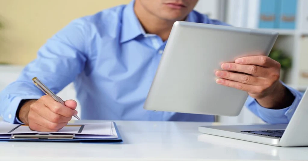
[[[237,63],[223,63],[221,65],[222,69],[237,71],[241,73],[247,73],[254,76],[265,77],[268,75],[268,70],[261,66],[256,65],[246,65],[246,64],[237,64]]]

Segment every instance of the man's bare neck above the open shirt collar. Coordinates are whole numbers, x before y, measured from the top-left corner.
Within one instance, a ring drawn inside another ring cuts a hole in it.
[[[175,21],[160,19],[146,10],[139,1],[135,2],[134,11],[146,33],[156,34],[166,41]]]

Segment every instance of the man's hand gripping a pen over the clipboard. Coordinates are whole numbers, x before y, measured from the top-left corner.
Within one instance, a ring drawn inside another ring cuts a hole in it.
[[[44,95],[38,100],[24,103],[18,118],[28,124],[31,130],[55,132],[66,126],[73,115],[77,115],[76,107],[74,100],[67,100],[63,105],[51,96]]]

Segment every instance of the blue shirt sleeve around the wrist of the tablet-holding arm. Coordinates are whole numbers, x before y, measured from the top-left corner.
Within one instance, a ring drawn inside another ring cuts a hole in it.
[[[282,84],[286,86],[283,82]],[[290,90],[290,92],[294,95],[295,99],[291,106],[274,110],[262,107],[256,99],[252,97],[248,97],[245,105],[246,107],[252,111],[255,115],[260,117],[263,121],[270,124],[287,124],[290,122],[291,117],[293,116],[300,100],[302,99],[303,93],[296,91],[295,89],[286,86]]]

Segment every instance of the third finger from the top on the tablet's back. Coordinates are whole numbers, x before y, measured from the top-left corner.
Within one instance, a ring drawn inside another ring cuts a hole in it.
[[[229,79],[232,81],[236,81],[236,82],[240,82],[244,84],[250,84],[254,86],[261,85],[260,83],[262,83],[258,81],[259,78],[253,77],[247,74],[239,74],[239,73],[233,73],[233,72],[222,71],[222,70],[218,70],[215,74],[219,78]]]

